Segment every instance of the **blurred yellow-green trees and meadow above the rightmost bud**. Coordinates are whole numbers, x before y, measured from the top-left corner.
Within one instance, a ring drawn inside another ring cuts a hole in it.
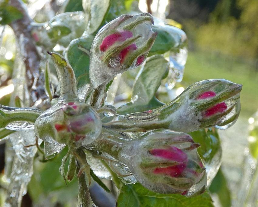
[[[168,18],[182,25],[189,53],[185,85],[225,78],[243,84],[240,117],[258,107],[258,1],[171,0]]]

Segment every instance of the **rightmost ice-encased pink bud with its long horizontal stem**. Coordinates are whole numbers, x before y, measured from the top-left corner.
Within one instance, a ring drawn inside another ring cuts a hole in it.
[[[193,132],[215,126],[227,129],[240,113],[242,85],[225,79],[200,81],[185,89],[173,101],[157,109],[117,115],[104,127],[118,131],[171,129]]]

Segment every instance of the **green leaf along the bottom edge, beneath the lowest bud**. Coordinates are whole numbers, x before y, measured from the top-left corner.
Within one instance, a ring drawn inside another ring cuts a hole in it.
[[[205,192],[194,198],[176,194],[158,194],[145,189],[139,183],[123,185],[117,199],[117,207],[213,207],[210,195]]]

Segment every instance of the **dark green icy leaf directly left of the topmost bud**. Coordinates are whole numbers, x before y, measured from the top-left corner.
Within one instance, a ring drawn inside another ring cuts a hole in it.
[[[87,35],[74,39],[70,42],[66,50],[66,58],[73,68],[77,87],[83,86],[90,82],[89,68],[90,68],[90,47],[94,37]],[[87,52],[88,51],[88,52]]]

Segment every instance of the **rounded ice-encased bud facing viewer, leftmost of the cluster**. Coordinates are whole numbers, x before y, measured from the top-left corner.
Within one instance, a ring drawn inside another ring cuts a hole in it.
[[[58,102],[38,117],[34,124],[35,135],[50,142],[81,147],[100,135],[101,120],[97,112],[81,102]]]

